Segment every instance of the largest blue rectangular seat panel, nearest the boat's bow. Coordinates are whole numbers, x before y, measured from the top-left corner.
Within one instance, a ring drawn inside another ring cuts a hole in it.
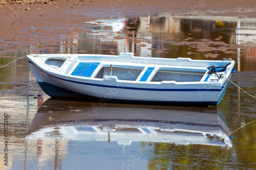
[[[72,76],[81,76],[81,77],[91,77],[94,70],[98,67],[100,63],[79,63],[74,71]]]

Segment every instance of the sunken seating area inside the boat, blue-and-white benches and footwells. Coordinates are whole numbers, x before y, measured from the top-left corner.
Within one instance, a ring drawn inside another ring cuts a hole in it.
[[[111,71],[112,65],[112,71]],[[102,79],[104,76],[116,76],[118,80],[136,82],[205,82],[209,80],[207,67],[172,66],[146,64],[125,64],[120,62],[85,62],[77,63],[68,75]]]

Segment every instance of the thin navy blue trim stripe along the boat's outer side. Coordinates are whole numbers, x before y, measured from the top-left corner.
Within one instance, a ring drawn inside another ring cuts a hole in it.
[[[30,61],[29,61],[29,63],[33,64]],[[34,65],[34,66],[37,67],[36,65]],[[38,68],[38,69],[40,69],[40,68]],[[49,75],[45,71],[42,71],[42,72]],[[59,80],[68,81],[68,82],[77,83],[77,84],[83,84],[83,85],[89,85],[89,86],[99,86],[99,87],[108,87],[108,88],[130,89],[130,90],[147,90],[147,91],[221,91],[222,90],[222,88],[220,88],[220,89],[172,89],[172,88],[162,89],[162,88],[138,88],[138,87],[110,86],[110,85],[84,83],[84,82],[78,82],[78,81],[73,81],[73,80],[67,80],[67,79],[58,78],[58,77],[55,77],[55,76],[52,76],[52,75],[49,75],[49,76],[51,76],[53,78],[56,78],[56,79],[59,79]]]

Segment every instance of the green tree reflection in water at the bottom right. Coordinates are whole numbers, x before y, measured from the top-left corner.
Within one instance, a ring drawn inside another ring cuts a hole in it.
[[[236,167],[232,150],[208,145],[176,145],[173,143],[142,143],[150,148],[148,169],[222,169]]]

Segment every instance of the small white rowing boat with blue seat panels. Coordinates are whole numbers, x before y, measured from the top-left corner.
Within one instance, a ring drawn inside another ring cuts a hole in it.
[[[100,98],[104,103],[216,106],[235,71],[231,59],[148,58],[133,53],[40,54],[28,55],[28,61],[48,95]]]

